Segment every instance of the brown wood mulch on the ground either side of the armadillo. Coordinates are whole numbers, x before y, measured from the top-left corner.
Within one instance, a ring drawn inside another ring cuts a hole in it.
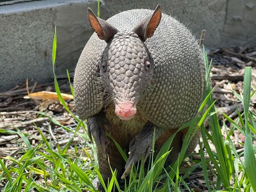
[[[217,100],[216,107],[218,111],[225,112],[230,118],[236,120],[237,108],[243,111],[243,106],[236,97],[234,97],[230,87],[238,94],[242,93],[243,73],[246,66],[252,67],[251,87],[256,87],[256,48],[255,47],[234,47],[219,48],[208,51],[209,59],[212,59],[212,72],[210,74],[212,86],[215,87],[213,98]],[[70,93],[68,80],[60,77],[59,86],[62,93]],[[35,81],[27,81],[22,85],[16,85],[13,89],[0,93],[0,158],[12,156],[19,158],[23,155],[23,140],[18,134],[1,133],[1,130],[12,131],[17,128],[25,135],[29,136],[30,143],[36,146],[42,141],[37,127],[42,130],[47,139],[51,139],[56,144],[65,145],[71,134],[62,127],[53,124],[47,116],[55,118],[64,126],[76,129],[77,124],[63,106],[56,101],[39,101],[35,99],[24,99],[23,97],[37,91],[54,91],[54,84],[40,84]],[[75,112],[73,100],[66,101],[71,111]],[[251,99],[250,110],[256,113],[256,96]],[[42,112],[47,116],[42,115]],[[221,113],[220,113],[221,114]],[[220,116],[221,118],[221,116]],[[224,119],[225,120],[225,119]],[[227,126],[230,124],[226,122]],[[225,136],[225,130],[223,130]],[[238,152],[243,151],[245,137],[238,131],[234,131],[231,136]],[[85,141],[81,137],[75,137],[74,141],[84,147]],[[213,147],[214,150],[214,147]],[[199,158],[193,156],[193,158]],[[210,177],[212,182],[216,182],[216,177]],[[204,191],[207,189],[203,177],[203,171],[196,169],[195,173],[189,177],[186,182],[188,186],[195,191]],[[4,183],[0,182],[0,188]]]

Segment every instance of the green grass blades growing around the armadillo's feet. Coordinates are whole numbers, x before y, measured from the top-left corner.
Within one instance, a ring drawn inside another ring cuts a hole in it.
[[[2,133],[10,135],[18,134],[25,144],[22,152],[23,155],[19,158],[15,159],[7,156],[0,160],[0,182],[5,182],[5,187],[2,191],[82,191],[84,189],[96,191],[92,185],[93,179],[98,177],[102,181],[97,162],[93,160],[96,158],[96,147],[89,143],[87,134],[79,131],[80,129],[86,130],[85,123],[69,110],[68,105],[61,98],[55,75],[56,49],[57,37],[55,30],[52,49],[55,90],[61,105],[76,120],[77,127],[75,130],[72,130],[63,126],[51,116],[48,116],[55,126],[62,127],[70,132],[70,139],[64,146],[53,145],[51,140],[47,140],[47,137],[40,128],[38,128],[38,132],[42,137],[42,141],[36,147],[32,147],[28,139],[29,136],[24,135],[18,129],[16,131],[0,130]],[[126,180],[124,184],[121,185],[118,182],[115,177],[116,170],[112,170],[113,176],[110,178],[108,185],[103,183],[106,191],[112,191],[113,189],[118,191],[181,191],[181,186],[182,189],[192,191],[185,180],[193,174],[195,169],[203,170],[208,191],[256,191],[256,149],[252,142],[255,139],[256,133],[256,114],[249,109],[250,98],[255,93],[255,91],[253,93],[250,92],[251,68],[247,67],[245,69],[243,94],[235,94],[243,102],[245,110],[242,114],[238,111],[239,119],[236,121],[230,119],[225,114],[222,115],[223,119],[226,118],[232,125],[232,128],[226,133],[224,138],[221,129],[226,129],[226,123],[222,121],[221,126],[217,118],[214,107],[215,101],[212,98],[212,88],[209,83],[211,62],[209,63],[205,51],[204,61],[205,68],[207,69],[205,76],[205,81],[207,82],[205,99],[196,117],[179,129],[182,130],[185,127],[189,127],[177,161],[170,166],[163,166],[168,154],[171,153],[170,145],[174,139],[174,134],[164,143],[162,149],[155,155],[155,158],[152,155],[150,156],[149,165],[146,166],[142,161],[141,166],[133,166],[129,180]],[[71,84],[70,87],[73,94]],[[43,112],[40,115],[47,116]],[[207,131],[204,127],[205,119],[209,121],[210,131]],[[201,131],[203,139],[203,142],[200,143],[199,155],[201,160],[195,160],[189,168],[181,168],[180,165],[186,157],[185,151],[191,140],[191,135],[194,135],[197,130]],[[244,152],[240,154],[237,153],[236,147],[230,139],[235,130],[245,135],[246,138]],[[84,148],[84,152],[77,152],[77,145],[72,142],[73,138],[77,135],[86,140],[85,147],[90,148],[89,151],[86,151]],[[212,151],[209,143],[214,145],[216,152]],[[125,152],[122,151],[118,144],[116,145],[123,158],[127,160]],[[70,150],[71,146],[72,151]],[[209,159],[205,159],[205,155],[208,155]],[[216,182],[209,180],[209,177],[212,176],[217,177]],[[41,182],[38,182],[38,180]],[[231,183],[233,184],[231,185]]]

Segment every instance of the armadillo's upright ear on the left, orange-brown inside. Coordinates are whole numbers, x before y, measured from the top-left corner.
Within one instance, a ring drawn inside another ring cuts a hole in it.
[[[117,28],[105,20],[97,18],[97,16],[89,7],[87,14],[90,26],[93,28],[100,39],[105,40],[106,43],[108,43],[108,41],[112,39],[115,34],[117,34]]]

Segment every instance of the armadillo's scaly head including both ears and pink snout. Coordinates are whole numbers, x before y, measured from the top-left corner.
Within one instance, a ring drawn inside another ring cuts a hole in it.
[[[154,34],[161,19],[160,6],[131,31],[118,31],[88,9],[89,22],[108,44],[100,62],[101,80],[115,104],[115,114],[130,120],[137,112],[142,91],[151,82],[154,61],[144,41]]]

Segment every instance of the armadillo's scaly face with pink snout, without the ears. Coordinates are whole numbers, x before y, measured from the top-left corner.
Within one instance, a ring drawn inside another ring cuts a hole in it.
[[[115,103],[115,114],[130,120],[136,114],[141,92],[151,81],[154,62],[134,32],[118,32],[105,48],[100,75]]]

